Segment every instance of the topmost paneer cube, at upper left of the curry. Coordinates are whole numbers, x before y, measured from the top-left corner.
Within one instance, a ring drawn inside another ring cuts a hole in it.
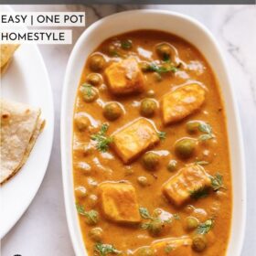
[[[123,59],[105,69],[108,87],[113,94],[122,95],[144,91],[144,75],[136,59]]]

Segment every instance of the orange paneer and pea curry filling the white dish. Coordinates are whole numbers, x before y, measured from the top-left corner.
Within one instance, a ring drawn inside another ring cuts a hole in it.
[[[113,63],[123,66],[109,69]],[[187,85],[196,91],[168,94]],[[176,108],[165,121],[172,109],[163,107],[164,95]],[[144,123],[114,145],[114,134],[138,118]],[[227,138],[219,86],[197,48],[151,30],[101,43],[82,70],[74,112],[74,191],[89,255],[225,255],[232,208]]]

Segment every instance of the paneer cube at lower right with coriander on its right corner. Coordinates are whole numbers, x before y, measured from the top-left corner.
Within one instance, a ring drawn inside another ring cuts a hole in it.
[[[210,185],[210,177],[202,166],[189,165],[165,182],[162,191],[176,206],[181,206],[193,193]]]

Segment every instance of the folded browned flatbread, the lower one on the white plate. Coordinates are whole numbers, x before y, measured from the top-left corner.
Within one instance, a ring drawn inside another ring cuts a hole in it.
[[[27,162],[27,157],[45,121],[40,109],[15,101],[1,100],[0,184]]]

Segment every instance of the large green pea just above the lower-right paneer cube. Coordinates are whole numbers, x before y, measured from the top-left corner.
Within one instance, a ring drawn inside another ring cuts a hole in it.
[[[178,140],[175,144],[176,155],[182,159],[191,157],[196,150],[196,140],[190,138],[184,138]]]

